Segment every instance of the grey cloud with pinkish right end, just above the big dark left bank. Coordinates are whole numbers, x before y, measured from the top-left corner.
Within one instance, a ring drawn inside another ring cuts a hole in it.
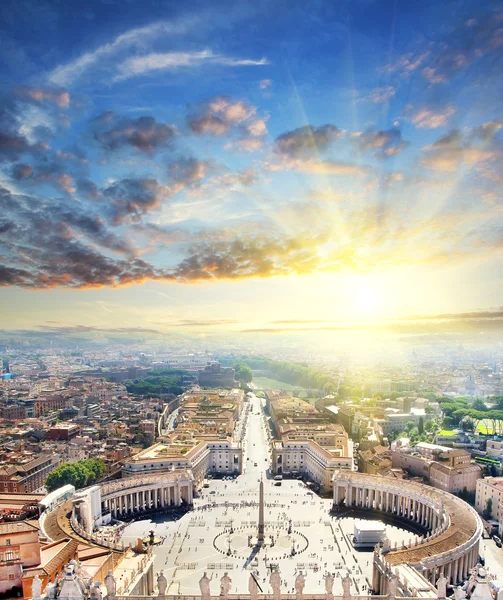
[[[171,195],[171,190],[155,179],[121,179],[103,190],[103,199],[108,203],[114,225],[140,221]]]

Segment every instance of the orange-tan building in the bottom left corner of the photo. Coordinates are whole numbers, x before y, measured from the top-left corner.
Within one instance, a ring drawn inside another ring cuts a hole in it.
[[[21,588],[23,570],[38,564],[38,527],[27,521],[0,523],[0,594]]]

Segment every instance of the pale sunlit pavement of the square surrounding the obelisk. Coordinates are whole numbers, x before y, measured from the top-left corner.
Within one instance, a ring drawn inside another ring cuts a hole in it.
[[[170,582],[168,594],[199,594],[198,582],[204,571],[212,579],[212,594],[218,594],[225,571],[232,579],[232,593],[247,593],[250,570],[269,593],[269,573],[274,567],[281,571],[283,592],[294,591],[299,570],[306,576],[306,593],[324,592],[327,572],[335,573],[334,594],[342,593],[340,581],[348,571],[353,590],[365,592],[372,580],[372,551],[353,548],[350,538],[355,519],[332,517],[332,501],[313,495],[301,481],[283,480],[281,486],[274,485],[268,472],[270,457],[261,403],[256,397],[251,400],[243,474],[230,481],[212,480],[195,499],[194,510],[182,518],[158,516],[137,521],[125,529],[122,539],[134,544],[150,529],[163,538],[162,545],[154,548],[155,570],[164,569]],[[248,536],[256,535],[261,477],[269,544],[257,549],[248,546]],[[391,526],[386,530],[392,543],[412,535]],[[294,556],[292,545],[297,552]]]

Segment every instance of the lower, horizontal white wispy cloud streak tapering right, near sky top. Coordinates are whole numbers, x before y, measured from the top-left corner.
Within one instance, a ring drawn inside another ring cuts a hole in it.
[[[258,66],[269,64],[267,59],[239,59],[213,54],[211,50],[199,52],[165,52],[128,58],[118,67],[115,81],[122,81],[155,71],[176,71],[182,68],[222,65],[227,67]]]

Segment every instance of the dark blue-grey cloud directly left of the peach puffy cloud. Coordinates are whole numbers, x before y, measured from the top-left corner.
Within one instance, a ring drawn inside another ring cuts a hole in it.
[[[117,119],[109,111],[94,119],[92,126],[95,139],[107,150],[131,146],[146,154],[169,147],[177,134],[173,125],[158,122],[154,117]]]

